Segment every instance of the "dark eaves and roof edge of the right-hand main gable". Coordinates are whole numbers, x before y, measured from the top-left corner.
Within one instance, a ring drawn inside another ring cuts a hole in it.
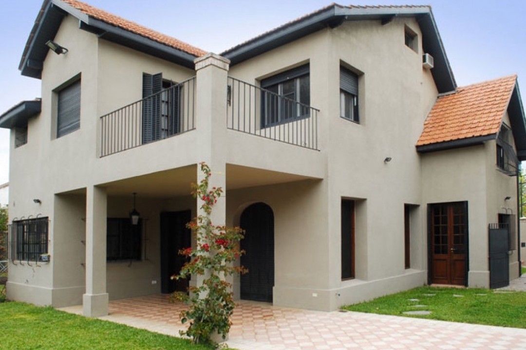
[[[394,17],[415,17],[422,30],[423,51],[434,58],[431,69],[440,93],[454,91],[457,83],[446,56],[430,6],[342,6],[331,4],[292,22],[267,31],[221,53],[230,65],[242,62],[314,33],[323,28],[334,28],[345,20],[380,20],[386,24]]]

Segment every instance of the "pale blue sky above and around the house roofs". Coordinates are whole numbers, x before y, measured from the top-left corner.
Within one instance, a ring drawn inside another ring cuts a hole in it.
[[[96,7],[174,36],[207,51],[242,41],[328,5],[331,0],[87,0]],[[357,1],[356,5],[407,4]],[[459,86],[511,73],[526,96],[526,1],[413,1],[430,4]],[[347,3],[342,3],[347,4]],[[0,12],[0,113],[40,97],[40,80],[20,75],[18,62],[42,5],[38,0],[2,0]],[[15,160],[16,162],[16,160]],[[0,129],[0,184],[9,176],[9,132]]]

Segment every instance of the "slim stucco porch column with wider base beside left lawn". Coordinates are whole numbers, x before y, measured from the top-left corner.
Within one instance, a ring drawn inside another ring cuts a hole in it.
[[[106,293],[106,220],[107,195],[104,188],[86,189],[86,293],[83,314],[99,317],[108,314]]]

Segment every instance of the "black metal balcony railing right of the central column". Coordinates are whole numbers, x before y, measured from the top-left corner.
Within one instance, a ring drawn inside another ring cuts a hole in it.
[[[228,77],[228,129],[318,150],[318,112],[307,104]]]

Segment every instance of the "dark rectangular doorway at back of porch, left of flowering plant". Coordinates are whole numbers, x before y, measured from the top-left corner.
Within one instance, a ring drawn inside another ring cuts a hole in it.
[[[191,231],[186,224],[191,220],[190,210],[166,211],[160,215],[160,249],[161,249],[161,292],[186,292],[188,279],[172,280],[170,277],[178,274],[186,262],[179,255],[179,250],[191,245]]]

